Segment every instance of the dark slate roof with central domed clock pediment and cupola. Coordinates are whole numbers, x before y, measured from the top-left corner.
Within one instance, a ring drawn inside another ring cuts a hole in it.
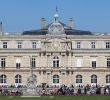
[[[24,31],[22,35],[92,35],[90,31],[76,30],[72,29],[70,26],[59,21],[59,15],[56,13],[54,15],[54,21],[43,29]]]

